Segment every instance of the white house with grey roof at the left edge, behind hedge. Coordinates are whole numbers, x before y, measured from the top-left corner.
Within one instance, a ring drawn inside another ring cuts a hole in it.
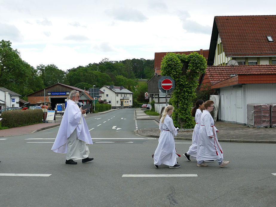
[[[6,107],[19,107],[18,93],[0,87],[0,109],[5,108],[5,92],[6,92]]]

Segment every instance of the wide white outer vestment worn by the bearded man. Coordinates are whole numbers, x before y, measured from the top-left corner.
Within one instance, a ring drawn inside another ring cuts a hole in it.
[[[56,153],[67,153],[68,138],[74,131],[76,131],[76,139],[85,142],[85,144],[93,144],[82,112],[78,105],[69,99],[51,150]]]

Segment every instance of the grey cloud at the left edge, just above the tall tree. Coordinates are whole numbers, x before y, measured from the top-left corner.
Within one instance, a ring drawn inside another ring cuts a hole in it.
[[[0,23],[0,39],[22,42],[23,36],[16,26]]]

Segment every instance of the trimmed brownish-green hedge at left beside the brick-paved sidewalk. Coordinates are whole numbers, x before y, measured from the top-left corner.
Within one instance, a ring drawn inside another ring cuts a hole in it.
[[[42,123],[43,111],[41,109],[3,111],[1,118],[3,118],[1,121],[3,127],[20,127]]]

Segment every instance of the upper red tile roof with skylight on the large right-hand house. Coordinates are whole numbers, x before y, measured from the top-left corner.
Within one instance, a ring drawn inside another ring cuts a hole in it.
[[[276,55],[276,15],[215,16],[214,23],[227,57]]]

